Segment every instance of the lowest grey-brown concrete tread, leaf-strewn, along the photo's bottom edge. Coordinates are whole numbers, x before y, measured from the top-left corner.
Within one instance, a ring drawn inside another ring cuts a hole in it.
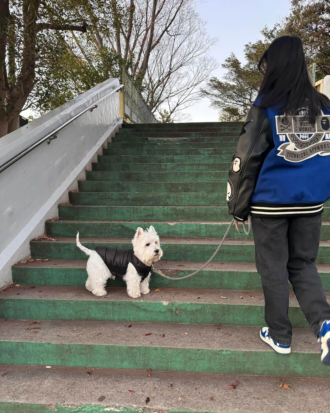
[[[63,406],[90,413],[131,412],[130,406],[145,413],[269,413],[269,406],[277,413],[301,413],[302,406],[304,413],[328,413],[330,408],[329,380],[322,378],[0,365],[2,374],[4,413],[50,413]],[[290,390],[279,387],[282,379]],[[236,381],[235,389],[227,387]]]

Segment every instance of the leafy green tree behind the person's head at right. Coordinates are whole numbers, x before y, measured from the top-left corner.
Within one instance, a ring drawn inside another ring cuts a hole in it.
[[[290,14],[273,28],[265,26],[261,34],[263,40],[245,45],[245,64],[231,54],[222,64],[226,69],[223,79],[211,78],[202,90],[203,95],[209,97],[211,106],[219,109],[219,119],[222,121],[237,121],[246,116],[262,78],[257,63],[278,36],[299,36],[307,64],[316,62],[316,78],[330,74],[329,0],[291,0]]]

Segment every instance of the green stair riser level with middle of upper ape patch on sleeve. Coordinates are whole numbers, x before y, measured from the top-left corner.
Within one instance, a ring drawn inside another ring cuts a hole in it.
[[[105,159],[106,161],[106,159]],[[92,171],[113,172],[228,172],[230,163],[219,164],[111,164],[104,162],[103,156],[98,157],[98,163],[92,164]]]

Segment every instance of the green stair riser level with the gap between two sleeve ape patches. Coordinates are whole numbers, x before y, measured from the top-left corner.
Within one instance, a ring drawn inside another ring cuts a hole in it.
[[[86,172],[86,180],[99,182],[226,182],[226,173],[206,172]]]

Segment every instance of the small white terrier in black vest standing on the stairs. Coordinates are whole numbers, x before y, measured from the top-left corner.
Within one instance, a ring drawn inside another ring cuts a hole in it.
[[[133,249],[95,247],[88,249],[80,244],[77,233],[77,247],[90,258],[87,261],[87,280],[85,287],[97,297],[107,294],[105,286],[108,278],[123,278],[127,294],[132,298],[148,294],[151,267],[163,256],[159,237],[151,225],[146,231],[137,228],[132,239]]]

